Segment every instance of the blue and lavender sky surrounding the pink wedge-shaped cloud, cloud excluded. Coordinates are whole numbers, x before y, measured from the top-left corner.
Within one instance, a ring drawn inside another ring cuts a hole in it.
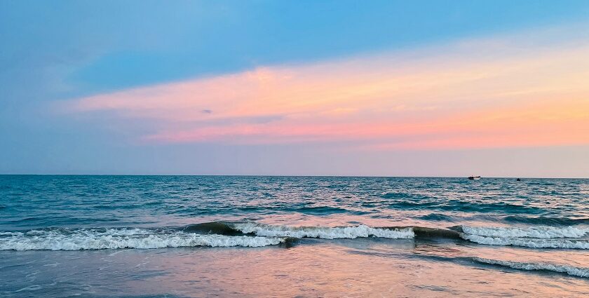
[[[368,153],[313,142],[146,144],[134,137],[153,123],[55,103],[588,17],[587,1],[0,1],[0,173],[586,177],[587,144]]]

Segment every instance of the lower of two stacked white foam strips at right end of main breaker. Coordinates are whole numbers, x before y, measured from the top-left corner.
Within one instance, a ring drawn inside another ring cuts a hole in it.
[[[569,248],[576,250],[589,250],[588,241],[570,241],[570,240],[550,240],[539,238],[501,238],[501,237],[485,237],[478,235],[471,235],[461,233],[461,238],[479,244],[487,245],[513,245],[522,246],[526,248]]]

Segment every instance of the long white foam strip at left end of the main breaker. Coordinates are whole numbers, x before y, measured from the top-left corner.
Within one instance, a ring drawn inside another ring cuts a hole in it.
[[[0,250],[102,250],[119,248],[261,247],[283,243],[285,238],[201,235],[149,229],[76,229],[6,232]]]

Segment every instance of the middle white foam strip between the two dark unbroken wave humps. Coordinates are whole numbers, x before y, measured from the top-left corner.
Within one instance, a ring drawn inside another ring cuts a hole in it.
[[[296,238],[362,238],[362,237],[380,237],[393,239],[414,238],[413,229],[383,229],[372,228],[370,226],[342,226],[342,227],[325,227],[325,226],[271,226],[267,224],[241,223],[233,224],[234,229],[243,233],[255,233],[256,236],[266,237],[296,237]]]

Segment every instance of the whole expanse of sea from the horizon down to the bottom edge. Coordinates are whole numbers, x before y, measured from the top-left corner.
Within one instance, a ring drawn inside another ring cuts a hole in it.
[[[589,180],[0,175],[0,297],[589,297]]]

